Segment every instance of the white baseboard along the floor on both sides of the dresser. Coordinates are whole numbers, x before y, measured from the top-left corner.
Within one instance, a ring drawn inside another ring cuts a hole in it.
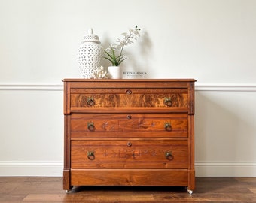
[[[256,177],[256,162],[196,162],[196,177]],[[62,162],[0,162],[0,176],[62,177]]]

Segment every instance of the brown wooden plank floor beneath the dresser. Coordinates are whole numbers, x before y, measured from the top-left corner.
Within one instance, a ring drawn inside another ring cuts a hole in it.
[[[256,177],[197,177],[184,187],[81,186],[66,194],[62,177],[0,177],[0,202],[256,202]]]

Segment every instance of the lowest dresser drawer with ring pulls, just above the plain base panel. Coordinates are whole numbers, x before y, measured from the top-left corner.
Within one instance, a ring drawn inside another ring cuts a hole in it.
[[[187,141],[72,141],[72,168],[187,168]]]

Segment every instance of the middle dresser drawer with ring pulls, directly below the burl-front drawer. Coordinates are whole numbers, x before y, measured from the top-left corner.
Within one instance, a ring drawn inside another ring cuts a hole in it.
[[[187,114],[72,114],[72,138],[187,138]]]

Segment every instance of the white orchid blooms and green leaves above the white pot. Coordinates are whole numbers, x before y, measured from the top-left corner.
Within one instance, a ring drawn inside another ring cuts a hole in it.
[[[141,29],[138,26],[135,26],[135,29],[129,29],[129,33],[123,32],[121,35],[124,36],[123,40],[117,38],[118,44],[110,44],[107,49],[105,49],[105,53],[107,56],[104,56],[105,59],[111,62],[113,66],[119,66],[121,62],[126,60],[123,54],[123,47],[127,46],[128,44],[132,44],[133,40],[137,40],[139,37],[139,31]],[[116,51],[118,53],[116,53]]]

